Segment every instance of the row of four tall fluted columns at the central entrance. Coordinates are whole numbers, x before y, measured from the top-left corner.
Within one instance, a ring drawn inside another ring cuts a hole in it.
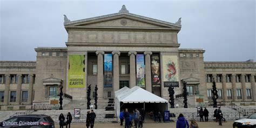
[[[104,51],[96,51],[97,57],[97,85],[98,85],[98,98],[104,98],[104,70],[103,70],[103,55]],[[120,51],[112,51],[113,55],[113,91],[119,90],[119,56]],[[130,56],[130,87],[136,86],[136,51],[129,51],[128,56]],[[145,55],[145,74],[146,74],[146,90],[152,92],[151,87],[151,60],[150,55],[152,52],[144,52]]]

